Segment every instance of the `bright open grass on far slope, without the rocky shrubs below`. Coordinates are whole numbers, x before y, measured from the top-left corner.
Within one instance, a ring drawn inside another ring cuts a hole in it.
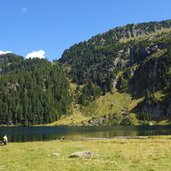
[[[100,96],[87,106],[75,104],[72,107],[72,115],[64,116],[59,121],[47,124],[47,126],[69,125],[81,126],[81,122],[90,120],[93,117],[100,117],[108,114],[121,113],[128,110],[131,96],[127,93],[115,92]]]

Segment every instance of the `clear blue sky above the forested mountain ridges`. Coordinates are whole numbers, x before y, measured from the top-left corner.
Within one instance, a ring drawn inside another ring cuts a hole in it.
[[[57,59],[111,28],[171,19],[170,7],[171,0],[0,0],[0,51]]]

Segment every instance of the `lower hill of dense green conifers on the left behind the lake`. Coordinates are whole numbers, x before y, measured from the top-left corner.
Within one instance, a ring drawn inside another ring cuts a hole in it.
[[[66,115],[70,103],[69,82],[57,63],[0,56],[0,124],[50,123]]]

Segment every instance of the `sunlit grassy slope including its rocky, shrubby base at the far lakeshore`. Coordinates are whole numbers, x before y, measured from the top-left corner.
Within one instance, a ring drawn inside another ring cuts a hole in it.
[[[136,114],[129,113],[130,102],[131,97],[127,93],[107,93],[86,106],[75,105],[72,115],[64,116],[48,126],[139,125]]]

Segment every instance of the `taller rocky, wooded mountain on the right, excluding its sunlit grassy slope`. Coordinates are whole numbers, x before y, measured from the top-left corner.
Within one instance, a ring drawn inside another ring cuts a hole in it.
[[[129,93],[139,119],[171,116],[171,20],[129,24],[92,37],[64,51],[62,63],[89,105],[106,93]],[[81,87],[81,88],[80,88]],[[115,101],[115,99],[113,100]],[[129,105],[129,104],[128,104]]]

